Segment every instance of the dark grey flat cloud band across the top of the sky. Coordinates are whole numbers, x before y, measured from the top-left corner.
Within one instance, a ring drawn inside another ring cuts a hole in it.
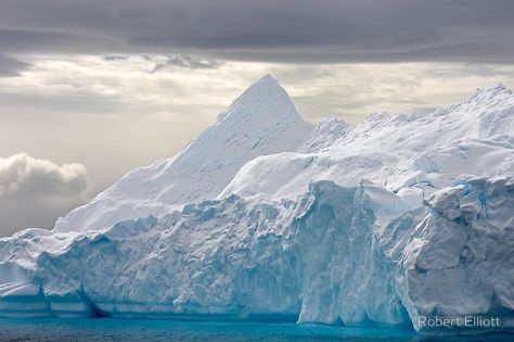
[[[0,52],[511,63],[511,0],[3,0]]]

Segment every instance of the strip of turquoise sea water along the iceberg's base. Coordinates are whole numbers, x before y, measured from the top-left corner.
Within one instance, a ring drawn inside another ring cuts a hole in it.
[[[454,339],[446,339],[453,341]],[[513,341],[486,334],[460,341]],[[0,341],[435,341],[410,329],[259,321],[0,319]]]

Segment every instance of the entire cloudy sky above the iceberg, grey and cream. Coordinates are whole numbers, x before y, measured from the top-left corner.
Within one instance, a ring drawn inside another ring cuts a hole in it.
[[[514,87],[511,0],[0,0],[0,236],[172,156],[271,74],[358,125]]]

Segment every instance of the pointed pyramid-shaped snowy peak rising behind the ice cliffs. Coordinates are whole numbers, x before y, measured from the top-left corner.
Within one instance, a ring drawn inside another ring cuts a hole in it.
[[[181,153],[132,170],[91,203],[60,218],[55,231],[105,228],[216,197],[247,161],[295,150],[311,129],[285,90],[267,75]]]

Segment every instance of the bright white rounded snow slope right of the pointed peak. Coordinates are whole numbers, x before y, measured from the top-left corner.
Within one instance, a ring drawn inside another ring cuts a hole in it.
[[[312,180],[367,178],[421,204],[461,174],[514,175],[513,136],[514,96],[496,85],[428,115],[372,115],[318,151],[255,159],[220,198],[293,199]]]

